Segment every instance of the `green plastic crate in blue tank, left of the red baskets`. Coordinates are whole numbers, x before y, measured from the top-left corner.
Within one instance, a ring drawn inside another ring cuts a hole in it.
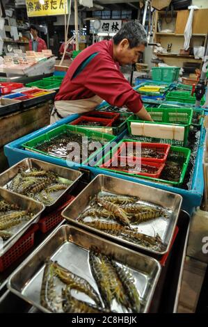
[[[72,126],[72,125],[61,125],[60,127],[56,127],[54,129],[52,129],[51,131],[48,131],[45,134],[42,134],[36,138],[33,138],[31,141],[23,143],[22,147],[24,147],[25,149],[32,151],[32,152],[39,152],[39,153],[44,154],[49,157],[56,157],[58,159],[61,159],[60,157],[57,157],[53,154],[48,154],[47,152],[43,152],[41,150],[35,149],[35,145],[44,143],[45,141],[50,141],[53,138],[56,138],[56,136],[60,136],[61,134],[65,133],[67,131],[70,131],[70,133],[76,134],[79,136],[88,136],[88,138],[92,138],[95,141],[108,142],[106,145],[108,145],[109,142],[111,142],[115,139],[115,136],[113,136],[113,135],[99,133],[98,131],[90,131],[88,129],[83,129],[83,128],[79,128],[77,126]],[[104,145],[104,147],[106,147],[106,145]],[[104,149],[104,147],[103,147],[103,149]],[[89,159],[92,159],[93,157],[95,157],[99,151],[100,151],[100,149],[98,149],[93,154],[91,154],[87,160],[82,162],[82,164],[87,163],[87,161]],[[65,159],[62,159],[62,160],[65,160]]]

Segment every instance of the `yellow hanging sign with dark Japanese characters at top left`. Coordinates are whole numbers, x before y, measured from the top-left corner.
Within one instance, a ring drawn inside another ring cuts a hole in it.
[[[26,11],[28,17],[65,15],[67,0],[26,0]]]

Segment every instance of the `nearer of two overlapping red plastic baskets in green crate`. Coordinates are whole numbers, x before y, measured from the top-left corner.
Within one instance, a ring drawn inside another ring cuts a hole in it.
[[[141,160],[141,165],[156,167],[157,171],[154,173],[142,173],[141,171],[134,169],[133,165],[135,163],[135,160],[131,157],[115,157],[114,156],[112,159],[110,159],[109,161],[106,161],[99,167],[110,169],[110,170],[115,170],[115,172],[118,172],[118,173],[129,173],[129,174],[141,175],[141,176],[147,176],[147,177],[153,177],[153,178],[159,178],[163,168],[165,167],[165,163],[145,161],[143,159],[138,159],[138,160]],[[132,169],[129,168],[129,170],[124,170],[124,169],[118,168],[118,166],[116,166],[117,163],[123,163],[124,166],[126,163],[132,163]]]

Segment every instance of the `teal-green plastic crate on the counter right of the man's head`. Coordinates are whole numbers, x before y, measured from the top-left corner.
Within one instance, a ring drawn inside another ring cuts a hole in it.
[[[152,67],[153,81],[177,81],[180,67]]]

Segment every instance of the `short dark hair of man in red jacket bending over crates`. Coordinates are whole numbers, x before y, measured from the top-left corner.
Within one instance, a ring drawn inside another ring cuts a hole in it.
[[[130,49],[139,45],[147,45],[147,33],[142,24],[139,22],[128,22],[113,36],[113,43],[119,43],[127,38]]]

